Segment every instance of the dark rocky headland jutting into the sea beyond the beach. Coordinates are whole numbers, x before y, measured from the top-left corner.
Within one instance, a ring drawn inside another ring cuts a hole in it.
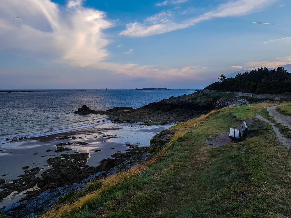
[[[240,97],[200,98],[200,92],[178,97],[170,97],[159,102],[153,102],[141,108],[115,107],[106,111],[89,110],[86,105],[74,113],[109,115],[109,119],[116,122],[143,122],[146,125],[161,125],[167,123],[184,122],[188,119],[206,114],[214,109],[230,105],[242,105],[248,102]],[[210,93],[210,92],[207,92]],[[211,93],[210,93],[211,94]]]

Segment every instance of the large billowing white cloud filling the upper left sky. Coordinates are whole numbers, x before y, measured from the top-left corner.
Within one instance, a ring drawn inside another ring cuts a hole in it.
[[[18,19],[7,19],[11,15]],[[0,46],[22,56],[88,66],[108,55],[102,29],[113,26],[104,12],[69,1],[66,9],[49,0],[0,1]]]

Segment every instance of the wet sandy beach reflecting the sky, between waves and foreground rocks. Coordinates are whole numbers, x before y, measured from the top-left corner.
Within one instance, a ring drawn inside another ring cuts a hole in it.
[[[112,154],[126,152],[129,149],[127,144],[137,144],[139,147],[149,146],[150,140],[156,133],[172,125],[145,126],[141,123],[107,123],[53,135],[3,142],[0,144],[2,150],[0,152],[0,178],[5,179],[5,183],[14,183],[14,180],[19,180],[19,176],[28,173],[34,173],[35,177],[41,178],[41,174],[46,170],[54,170],[47,162],[48,158],[64,159],[61,156],[63,154],[86,153],[88,154],[87,160],[84,160],[86,165],[96,167],[103,159],[113,159]],[[61,143],[65,143],[65,145],[60,146]],[[65,151],[56,152],[59,148],[63,148]],[[14,191],[0,201],[0,208],[16,203],[31,189],[39,190],[36,185],[21,192]],[[2,191],[3,189],[0,189],[0,194]]]

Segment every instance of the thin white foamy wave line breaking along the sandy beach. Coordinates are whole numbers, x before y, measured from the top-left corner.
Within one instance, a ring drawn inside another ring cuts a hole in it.
[[[104,121],[101,123],[93,123],[93,124],[86,124],[86,125],[81,125],[81,126],[75,126],[75,127],[69,127],[69,128],[63,128],[63,129],[56,129],[56,130],[52,130],[52,131],[47,131],[47,132],[41,132],[41,133],[32,133],[32,134],[28,134],[28,135],[18,135],[18,136],[14,136],[17,138],[31,138],[31,137],[38,137],[38,136],[44,136],[44,135],[52,135],[52,134],[56,134],[56,133],[63,133],[63,132],[68,132],[71,130],[78,130],[78,129],[84,129],[84,128],[89,128],[89,127],[93,127],[93,126],[99,126],[102,124],[107,124],[107,123],[111,123],[112,121]],[[14,137],[7,137],[8,139],[13,139]],[[0,142],[6,141],[7,138],[0,138]]]

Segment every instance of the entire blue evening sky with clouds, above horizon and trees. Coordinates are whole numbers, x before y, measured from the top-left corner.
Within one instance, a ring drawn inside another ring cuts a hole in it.
[[[194,89],[291,72],[290,11],[290,0],[1,0],[0,90]]]

